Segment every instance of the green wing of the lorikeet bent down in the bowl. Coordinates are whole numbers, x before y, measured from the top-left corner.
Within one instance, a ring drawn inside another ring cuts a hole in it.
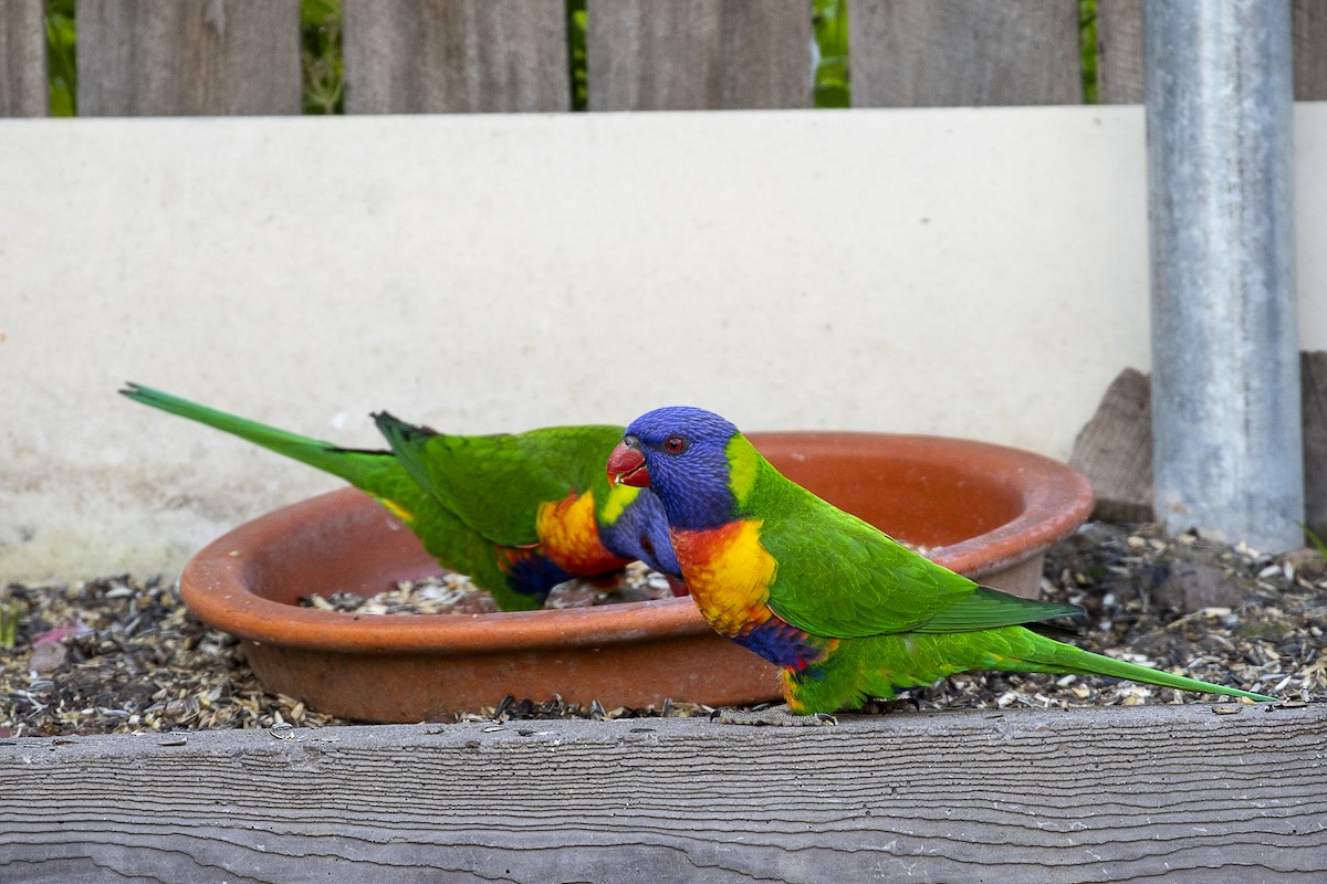
[[[503,546],[535,543],[540,505],[572,492],[608,497],[604,464],[624,429],[548,427],[524,433],[454,436],[374,415],[397,460],[442,505]]]

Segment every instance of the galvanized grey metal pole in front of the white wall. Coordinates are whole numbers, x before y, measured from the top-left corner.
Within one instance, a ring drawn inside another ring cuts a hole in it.
[[[1291,0],[1145,0],[1157,517],[1303,546]]]

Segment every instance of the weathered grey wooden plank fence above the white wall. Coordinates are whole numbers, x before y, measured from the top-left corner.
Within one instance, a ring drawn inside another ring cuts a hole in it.
[[[78,113],[299,114],[299,0],[78,0]],[[1083,101],[1078,0],[851,0],[859,107]],[[345,110],[571,109],[565,0],[342,0]],[[1295,98],[1327,3],[1294,0]],[[46,114],[42,0],[0,0],[0,117]],[[812,105],[809,0],[587,0],[591,110]],[[1141,0],[1100,0],[1103,103],[1143,99]]]

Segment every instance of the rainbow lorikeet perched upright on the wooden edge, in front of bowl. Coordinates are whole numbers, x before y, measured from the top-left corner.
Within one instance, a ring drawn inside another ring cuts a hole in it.
[[[967,669],[1097,673],[1273,701],[1113,660],[1024,628],[1072,604],[978,586],[784,478],[736,427],[699,408],[660,408],[626,428],[614,485],[650,488],[705,619],[783,671],[799,714]],[[821,714],[823,717],[823,714]]]

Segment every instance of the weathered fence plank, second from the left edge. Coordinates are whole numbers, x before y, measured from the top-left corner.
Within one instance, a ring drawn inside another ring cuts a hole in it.
[[[299,114],[299,0],[78,0],[78,114]]]

